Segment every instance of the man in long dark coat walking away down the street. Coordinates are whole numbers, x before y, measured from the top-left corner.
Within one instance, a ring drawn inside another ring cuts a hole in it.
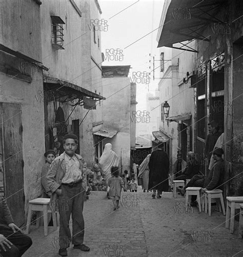
[[[149,190],[153,189],[153,198],[155,198],[156,190],[157,198],[161,198],[162,192],[169,189],[169,158],[160,146],[150,156],[149,170]]]

